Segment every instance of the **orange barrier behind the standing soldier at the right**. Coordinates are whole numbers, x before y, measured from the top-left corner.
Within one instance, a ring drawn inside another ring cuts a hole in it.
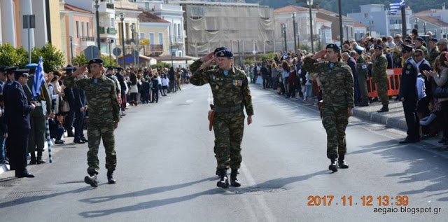
[[[396,96],[400,94],[401,69],[387,69],[387,76],[389,85],[387,95]],[[378,96],[377,85],[372,77],[367,77],[367,94],[370,98]]]

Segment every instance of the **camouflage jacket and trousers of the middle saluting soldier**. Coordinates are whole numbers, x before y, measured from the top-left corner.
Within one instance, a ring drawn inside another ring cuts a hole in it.
[[[253,115],[247,76],[244,71],[233,66],[228,76],[225,76],[222,69],[197,70],[201,65],[201,60],[197,60],[190,66],[194,73],[190,83],[209,83],[211,86],[216,111],[213,128],[218,169],[238,169],[242,161],[241,141],[245,118],[243,107],[246,107],[248,116]]]

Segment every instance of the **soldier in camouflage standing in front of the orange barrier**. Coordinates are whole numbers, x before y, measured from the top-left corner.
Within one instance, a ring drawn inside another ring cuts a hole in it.
[[[379,109],[377,112],[388,112],[389,108],[389,97],[387,95],[387,91],[389,90],[389,84],[388,84],[388,77],[387,77],[387,59],[386,56],[383,54],[383,47],[382,46],[375,46],[375,60],[373,61],[373,80],[375,83],[377,83],[377,92],[378,97],[381,100],[381,104],[383,104],[383,107]]]

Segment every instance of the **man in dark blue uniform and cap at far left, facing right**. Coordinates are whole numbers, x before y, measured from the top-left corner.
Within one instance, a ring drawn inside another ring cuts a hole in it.
[[[36,107],[35,102],[28,102],[23,90],[23,86],[27,85],[28,71],[27,69],[14,71],[15,81],[8,87],[6,98],[10,162],[15,167],[15,176],[19,178],[34,177],[27,170],[27,146],[31,130],[29,113]]]

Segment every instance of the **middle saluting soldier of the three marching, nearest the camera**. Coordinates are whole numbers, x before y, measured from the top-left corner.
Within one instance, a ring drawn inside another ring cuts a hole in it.
[[[216,62],[218,69],[209,69]],[[244,71],[232,65],[233,54],[224,49],[212,52],[194,62],[190,70],[194,71],[190,78],[193,85],[209,83],[214,97],[215,121],[215,153],[221,179],[216,184],[228,188],[227,169],[232,168],[230,183],[241,186],[237,172],[241,165],[241,141],[244,132],[244,113],[246,108],[247,125],[252,123],[253,106],[251,90]],[[199,67],[199,68],[198,68]]]

